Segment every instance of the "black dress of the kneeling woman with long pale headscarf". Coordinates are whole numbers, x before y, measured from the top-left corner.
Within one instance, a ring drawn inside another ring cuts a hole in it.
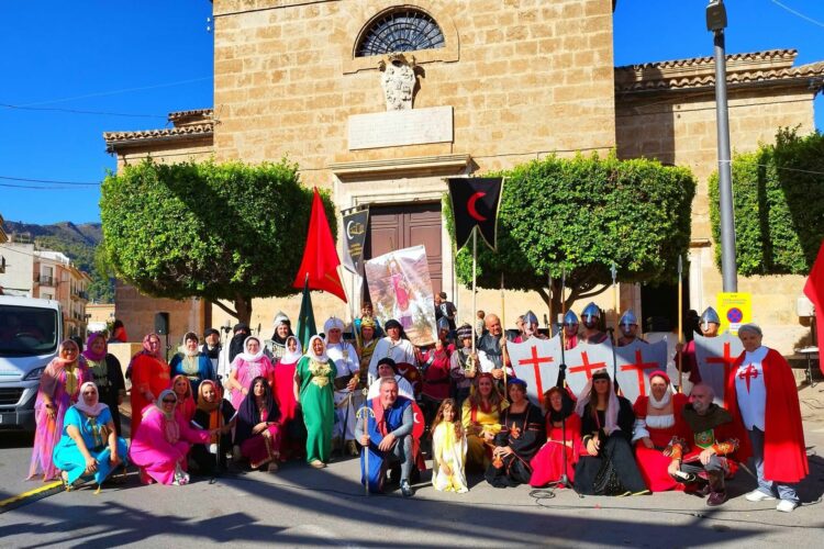
[[[635,456],[630,444],[635,425],[632,404],[619,396],[621,405],[617,414],[617,426],[609,437],[603,430],[604,412],[592,413],[593,403],[584,408],[581,417],[581,437],[584,442],[600,434],[601,449],[598,456],[582,452],[575,468],[575,489],[586,495],[624,495],[636,494],[647,490],[644,479],[635,463]]]

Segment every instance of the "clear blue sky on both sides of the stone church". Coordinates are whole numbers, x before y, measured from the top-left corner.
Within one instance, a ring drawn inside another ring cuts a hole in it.
[[[712,55],[705,5],[619,0],[615,64]],[[728,53],[797,48],[797,64],[824,59],[824,1],[727,0],[726,5]],[[0,176],[100,181],[115,167],[105,154],[104,131],[164,127],[169,111],[212,107],[211,9],[208,0],[48,0],[36,8],[23,0],[0,2],[0,103],[41,109],[0,105]],[[816,126],[824,128],[821,96],[815,107]],[[7,220],[100,219],[94,187],[10,179],[0,184],[49,188],[0,187]]]

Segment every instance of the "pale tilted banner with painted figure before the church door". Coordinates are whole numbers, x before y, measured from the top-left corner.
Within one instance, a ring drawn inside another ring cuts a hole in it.
[[[412,345],[435,343],[435,299],[423,246],[399,249],[364,264],[375,316],[386,326],[394,318]]]

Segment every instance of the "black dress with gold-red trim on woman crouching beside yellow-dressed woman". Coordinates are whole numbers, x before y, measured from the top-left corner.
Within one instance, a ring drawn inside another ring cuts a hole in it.
[[[513,453],[501,460],[500,467],[494,461],[487,468],[487,482],[495,488],[526,484],[532,477],[530,461],[546,441],[544,415],[537,406],[526,404],[520,413],[510,408],[501,413],[502,430],[495,436],[495,446],[509,446]]]

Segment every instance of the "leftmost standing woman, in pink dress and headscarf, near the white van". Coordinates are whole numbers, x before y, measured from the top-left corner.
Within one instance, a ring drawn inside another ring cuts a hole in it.
[[[57,468],[52,461],[54,447],[63,436],[63,418],[66,411],[80,396],[80,385],[92,381],[91,371],[80,349],[71,339],[63,341],[57,356],[46,366],[40,377],[37,400],[34,403],[34,448],[29,466],[29,479],[43,473],[43,481],[57,478]]]

